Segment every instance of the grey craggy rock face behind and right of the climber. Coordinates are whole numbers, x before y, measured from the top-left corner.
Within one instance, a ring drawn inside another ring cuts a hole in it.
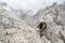
[[[46,43],[65,43],[65,11],[63,6],[64,4],[52,5],[44,11],[40,10],[36,15],[24,20],[35,28],[42,17],[48,25],[42,40]]]

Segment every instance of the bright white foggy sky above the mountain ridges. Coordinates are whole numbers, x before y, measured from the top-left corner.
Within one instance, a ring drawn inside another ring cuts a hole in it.
[[[6,2],[13,9],[38,11],[51,5],[53,2],[63,3],[64,0],[0,0]]]

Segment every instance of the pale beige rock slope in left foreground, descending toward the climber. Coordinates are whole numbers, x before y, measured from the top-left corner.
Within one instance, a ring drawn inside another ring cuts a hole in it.
[[[4,10],[4,9],[2,9]],[[1,11],[1,10],[0,10]],[[0,12],[0,43],[44,43],[35,29],[14,13]]]

